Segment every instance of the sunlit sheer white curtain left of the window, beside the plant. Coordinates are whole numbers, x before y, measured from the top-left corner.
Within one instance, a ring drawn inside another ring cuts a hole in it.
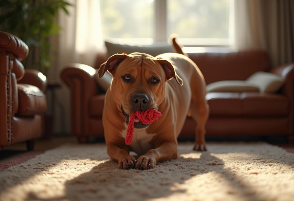
[[[71,0],[70,15],[60,12],[59,65],[77,62],[92,66],[104,50],[99,0]]]

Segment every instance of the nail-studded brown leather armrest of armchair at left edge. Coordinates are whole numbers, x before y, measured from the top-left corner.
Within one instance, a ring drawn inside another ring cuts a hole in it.
[[[13,114],[18,108],[16,80],[24,75],[28,46],[18,37],[0,31],[0,150],[13,141]]]

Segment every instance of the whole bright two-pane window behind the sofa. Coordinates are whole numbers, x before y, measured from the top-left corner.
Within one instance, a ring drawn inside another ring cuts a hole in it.
[[[105,39],[121,43],[166,42],[226,46],[232,38],[233,0],[101,0]]]

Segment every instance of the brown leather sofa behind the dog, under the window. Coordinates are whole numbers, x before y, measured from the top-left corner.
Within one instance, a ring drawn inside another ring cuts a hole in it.
[[[191,53],[189,57],[198,65],[207,84],[220,80],[245,80],[257,71],[272,72],[285,79],[277,94],[208,93],[208,136],[293,136],[294,64],[271,69],[267,53],[261,50]],[[106,54],[99,53],[95,68],[106,59]],[[87,141],[89,136],[103,136],[104,93],[94,80],[95,68],[70,64],[61,72],[61,78],[71,91],[71,132],[81,142]],[[180,137],[194,136],[194,129],[194,121],[187,117]]]

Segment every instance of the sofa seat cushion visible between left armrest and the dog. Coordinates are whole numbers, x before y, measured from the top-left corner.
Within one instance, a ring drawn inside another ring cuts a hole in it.
[[[105,94],[93,96],[89,102],[89,114],[91,117],[102,117]]]

